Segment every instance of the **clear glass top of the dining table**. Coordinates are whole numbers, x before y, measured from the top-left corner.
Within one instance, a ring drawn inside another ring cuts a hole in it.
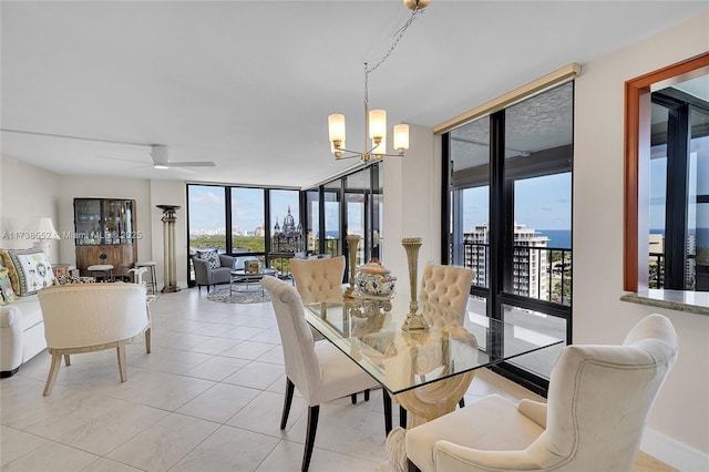
[[[354,298],[304,304],[306,320],[389,393],[436,382],[562,342],[514,322],[435,302],[419,302],[429,328],[404,331],[404,299]]]

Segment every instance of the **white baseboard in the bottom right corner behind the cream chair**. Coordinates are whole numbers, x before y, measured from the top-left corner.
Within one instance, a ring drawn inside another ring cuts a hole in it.
[[[709,454],[705,454],[649,428],[645,429],[640,450],[680,472],[709,471]]]

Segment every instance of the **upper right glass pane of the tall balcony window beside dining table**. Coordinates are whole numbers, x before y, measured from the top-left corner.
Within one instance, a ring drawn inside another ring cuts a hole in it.
[[[572,83],[505,112],[514,224],[506,235],[513,252],[506,255],[504,290],[561,305],[571,305],[572,297]]]

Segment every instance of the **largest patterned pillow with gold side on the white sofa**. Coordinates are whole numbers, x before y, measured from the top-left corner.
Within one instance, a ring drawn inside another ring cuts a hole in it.
[[[41,249],[6,249],[2,263],[10,269],[12,289],[20,297],[37,294],[54,284],[52,265]]]

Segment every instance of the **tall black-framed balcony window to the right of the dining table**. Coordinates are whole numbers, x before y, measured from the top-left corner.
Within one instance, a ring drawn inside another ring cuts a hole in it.
[[[471,316],[571,341],[573,82],[444,135],[449,263],[474,270]],[[497,370],[543,391],[563,346]],[[504,347],[503,347],[504,349]]]

